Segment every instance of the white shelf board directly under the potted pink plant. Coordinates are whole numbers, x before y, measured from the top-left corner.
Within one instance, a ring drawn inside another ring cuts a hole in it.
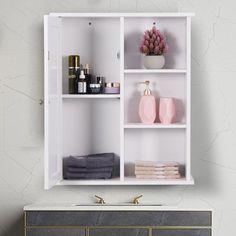
[[[181,74],[186,73],[187,70],[179,69],[125,69],[125,74]]]

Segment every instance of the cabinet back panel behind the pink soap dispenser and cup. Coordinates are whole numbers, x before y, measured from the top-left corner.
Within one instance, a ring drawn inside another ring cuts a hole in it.
[[[157,111],[160,97],[175,98],[176,122],[186,120],[186,77],[171,74],[130,74],[125,76],[125,123],[140,122],[138,109],[145,86],[140,84],[150,81],[152,95],[156,98]],[[158,114],[157,114],[158,117]],[[159,122],[158,118],[156,122]]]

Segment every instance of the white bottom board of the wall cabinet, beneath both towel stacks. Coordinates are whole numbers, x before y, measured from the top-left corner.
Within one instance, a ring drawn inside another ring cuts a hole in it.
[[[62,180],[57,185],[193,185],[194,179],[136,179],[134,176],[125,177],[124,181],[120,178],[107,180]]]

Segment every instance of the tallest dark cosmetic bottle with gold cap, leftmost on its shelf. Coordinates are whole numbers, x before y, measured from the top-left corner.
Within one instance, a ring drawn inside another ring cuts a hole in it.
[[[69,94],[77,93],[76,74],[80,70],[80,57],[79,55],[69,56]]]

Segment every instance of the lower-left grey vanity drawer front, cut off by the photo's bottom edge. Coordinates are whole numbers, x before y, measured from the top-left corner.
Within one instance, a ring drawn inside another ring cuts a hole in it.
[[[85,229],[27,229],[27,236],[85,236]]]

